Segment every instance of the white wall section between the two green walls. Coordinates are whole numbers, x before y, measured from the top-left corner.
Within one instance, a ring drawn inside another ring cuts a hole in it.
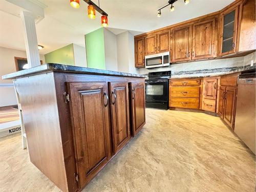
[[[73,44],[75,66],[87,67],[86,48]]]

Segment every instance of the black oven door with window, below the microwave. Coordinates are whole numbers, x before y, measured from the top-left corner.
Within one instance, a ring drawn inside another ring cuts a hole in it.
[[[168,102],[168,80],[145,81],[146,102]]]

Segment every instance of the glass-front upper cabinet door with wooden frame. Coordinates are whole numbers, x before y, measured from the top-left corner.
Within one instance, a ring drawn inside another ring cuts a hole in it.
[[[223,11],[220,15],[219,55],[236,51],[239,5]]]

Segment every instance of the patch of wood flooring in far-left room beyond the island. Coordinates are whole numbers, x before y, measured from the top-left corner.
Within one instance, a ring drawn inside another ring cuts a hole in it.
[[[0,109],[0,123],[16,121],[18,119],[18,109],[12,107],[4,107]]]

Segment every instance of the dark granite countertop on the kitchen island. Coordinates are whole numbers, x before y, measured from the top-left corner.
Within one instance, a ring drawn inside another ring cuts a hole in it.
[[[18,77],[23,77],[23,76],[28,76],[28,75],[33,75],[33,74],[43,73],[43,72],[50,72],[50,71],[92,74],[92,75],[123,76],[123,77],[140,77],[140,78],[146,77],[145,75],[138,75],[138,74],[132,74],[132,73],[123,73],[123,72],[117,72],[117,71],[61,65],[61,64],[57,64],[57,63],[46,63],[44,65],[40,65],[40,66],[33,67],[30,69],[3,75],[2,78],[3,79],[15,79]]]

